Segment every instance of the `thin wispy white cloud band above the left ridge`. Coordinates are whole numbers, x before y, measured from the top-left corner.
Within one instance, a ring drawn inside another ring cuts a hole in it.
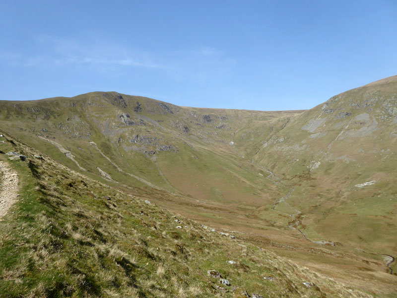
[[[0,62],[28,68],[94,70],[111,75],[132,69],[155,71],[176,81],[216,82],[230,75],[235,60],[219,49],[201,46],[169,53],[149,52],[109,41],[81,42],[41,35],[35,51],[1,53]]]

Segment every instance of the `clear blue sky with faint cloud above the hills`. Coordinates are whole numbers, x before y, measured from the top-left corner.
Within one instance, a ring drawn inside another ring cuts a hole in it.
[[[396,16],[396,0],[1,0],[0,99],[309,109],[397,74]]]

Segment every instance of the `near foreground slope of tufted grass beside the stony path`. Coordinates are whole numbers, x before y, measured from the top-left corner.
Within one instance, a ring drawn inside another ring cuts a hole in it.
[[[164,192],[121,191],[2,140],[26,156],[0,154],[20,177],[0,222],[3,298],[369,297],[144,201]]]

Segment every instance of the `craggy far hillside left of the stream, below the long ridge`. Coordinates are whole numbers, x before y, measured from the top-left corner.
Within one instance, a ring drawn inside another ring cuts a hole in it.
[[[286,192],[244,154],[301,113],[185,108],[116,92],[1,106],[2,128],[74,170],[180,194],[187,199],[163,206],[220,224],[246,224],[245,214]]]

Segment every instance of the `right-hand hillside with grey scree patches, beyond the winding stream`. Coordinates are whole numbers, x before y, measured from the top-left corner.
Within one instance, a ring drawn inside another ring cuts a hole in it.
[[[294,189],[277,208],[309,239],[396,255],[396,124],[393,76],[302,113],[253,160]]]

